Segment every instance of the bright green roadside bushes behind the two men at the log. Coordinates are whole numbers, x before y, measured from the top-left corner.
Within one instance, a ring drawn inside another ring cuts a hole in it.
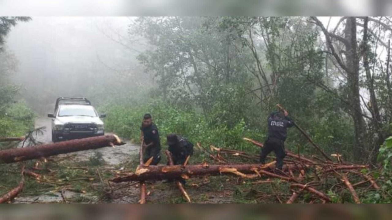
[[[191,142],[201,142],[202,146],[213,144],[227,148],[251,148],[251,144],[242,140],[243,137],[263,139],[265,136],[259,130],[250,129],[243,119],[233,126],[225,123],[209,124],[201,113],[181,110],[160,100],[150,101],[137,106],[106,106],[106,130],[113,131],[122,137],[139,141],[140,126],[145,113],[151,113],[153,122],[158,126],[161,144],[166,144],[166,135],[178,133],[187,137]]]

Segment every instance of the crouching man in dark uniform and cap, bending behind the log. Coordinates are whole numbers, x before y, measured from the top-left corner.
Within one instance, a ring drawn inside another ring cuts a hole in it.
[[[193,144],[184,137],[171,133],[167,135],[167,145],[172,154],[174,165],[184,164],[188,156],[193,154]],[[169,162],[168,162],[169,165]],[[171,182],[172,180],[168,180]],[[185,179],[179,179],[182,184],[185,184]]]

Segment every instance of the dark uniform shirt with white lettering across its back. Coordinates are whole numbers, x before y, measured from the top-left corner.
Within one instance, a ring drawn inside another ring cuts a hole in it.
[[[289,117],[278,117],[277,112],[273,112],[268,117],[268,137],[285,141],[287,138],[287,128],[294,126]]]

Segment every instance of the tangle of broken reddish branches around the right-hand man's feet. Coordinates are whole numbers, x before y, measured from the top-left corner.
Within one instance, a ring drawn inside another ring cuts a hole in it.
[[[244,138],[256,146],[263,147],[263,144],[252,139]],[[214,161],[220,164],[231,164],[235,160],[253,160],[258,161],[258,155],[252,155],[243,151],[231,150],[225,148],[216,148],[210,146],[208,151],[209,156]],[[287,157],[284,159],[284,164],[287,169],[285,171],[277,171],[281,177],[281,181],[290,182],[290,196],[283,193],[276,194],[279,202],[295,203],[298,197],[305,191],[312,195],[310,203],[327,203],[332,202],[328,197],[328,192],[341,194],[342,191],[347,190],[352,197],[352,200],[359,204],[361,203],[357,191],[380,190],[377,182],[368,171],[368,165],[353,164],[343,162],[341,155],[333,154],[336,162],[330,160],[323,160],[319,157],[312,156],[312,158],[305,157],[299,153],[293,153],[286,150]],[[289,180],[287,178],[290,178]],[[356,182],[354,182],[356,181]],[[268,184],[276,182],[276,180],[262,180],[253,182],[254,184]],[[283,195],[283,196],[282,196]],[[281,197],[286,197],[282,199]]]

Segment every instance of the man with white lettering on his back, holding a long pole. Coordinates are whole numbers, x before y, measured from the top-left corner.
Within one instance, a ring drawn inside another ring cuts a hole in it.
[[[284,110],[283,112],[272,112],[268,117],[268,139],[260,153],[260,162],[265,164],[267,155],[274,151],[278,170],[282,170],[283,158],[286,156],[284,143],[287,138],[287,128],[294,126],[293,121],[287,115],[289,113]]]

